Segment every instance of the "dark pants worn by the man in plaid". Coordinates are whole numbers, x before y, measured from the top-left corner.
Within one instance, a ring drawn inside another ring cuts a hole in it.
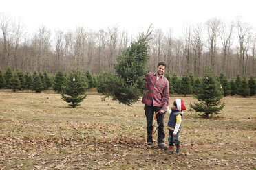
[[[147,106],[145,105],[145,115],[147,118],[147,143],[153,143],[153,138],[152,138],[152,130],[153,130],[153,117],[154,113],[158,112],[162,107],[157,107],[157,106]],[[156,120],[158,123],[158,145],[164,144],[164,114],[158,113],[156,115]],[[157,125],[155,125],[156,130]]]

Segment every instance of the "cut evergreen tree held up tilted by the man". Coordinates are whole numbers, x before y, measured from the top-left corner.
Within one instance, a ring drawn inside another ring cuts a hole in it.
[[[146,35],[140,34],[136,42],[117,56],[116,75],[107,80],[107,97],[129,106],[140,99],[145,90],[150,34],[149,30]]]

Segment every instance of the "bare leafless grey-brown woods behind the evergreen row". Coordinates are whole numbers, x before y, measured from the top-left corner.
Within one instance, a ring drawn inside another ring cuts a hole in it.
[[[58,70],[70,71],[74,63],[77,69],[99,74],[103,70],[114,73],[116,56],[127,49],[138,37],[131,36],[118,27],[106,30],[87,30],[77,27],[52,34],[47,27],[40,27],[32,36],[25,33],[21,22],[0,15],[0,68],[12,70],[45,71],[55,74]],[[166,72],[178,76],[190,72],[202,77],[206,66],[212,73],[224,73],[228,78],[238,74],[255,75],[255,29],[235,19],[224,23],[221,19],[209,19],[184,27],[183,34],[153,30],[149,42],[148,70],[155,70],[159,61],[167,62]]]

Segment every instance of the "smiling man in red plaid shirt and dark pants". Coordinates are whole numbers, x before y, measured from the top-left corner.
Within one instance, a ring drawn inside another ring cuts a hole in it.
[[[158,146],[161,149],[167,150],[167,145],[164,144],[164,112],[169,104],[169,81],[164,77],[166,68],[164,62],[159,62],[156,73],[149,72],[146,75],[145,95],[142,103],[145,104],[145,115],[147,118],[147,147],[153,145],[152,138],[152,122],[154,112],[158,112],[156,116],[158,123]]]

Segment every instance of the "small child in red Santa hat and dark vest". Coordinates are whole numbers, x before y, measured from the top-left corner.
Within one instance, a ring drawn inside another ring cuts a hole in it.
[[[183,118],[183,110],[186,110],[184,106],[184,101],[182,99],[176,99],[173,102],[173,107],[171,108],[171,114],[169,117],[169,121],[167,127],[169,129],[169,151],[167,154],[173,154],[173,146],[176,145],[176,152],[180,151],[180,141],[178,139],[180,134],[180,127]]]

